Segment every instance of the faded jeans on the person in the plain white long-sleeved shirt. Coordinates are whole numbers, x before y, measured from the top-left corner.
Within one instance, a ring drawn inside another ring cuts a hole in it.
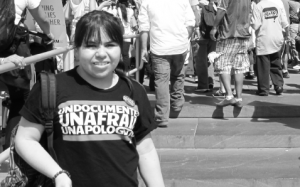
[[[168,125],[170,109],[180,112],[184,104],[183,64],[186,54],[186,52],[178,55],[150,54],[155,77],[155,120],[158,125]],[[169,81],[171,81],[170,88]]]

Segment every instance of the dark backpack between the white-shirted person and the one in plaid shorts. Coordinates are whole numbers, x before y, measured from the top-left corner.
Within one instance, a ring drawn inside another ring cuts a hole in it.
[[[212,4],[204,5],[201,11],[200,33],[204,39],[210,39],[210,31],[214,25],[216,11]]]

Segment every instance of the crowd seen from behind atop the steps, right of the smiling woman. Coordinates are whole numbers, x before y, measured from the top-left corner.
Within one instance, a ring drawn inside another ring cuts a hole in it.
[[[298,69],[299,5],[296,0],[190,0],[172,1],[171,6],[143,0],[138,16],[141,55],[152,64],[158,126],[166,127],[169,117],[181,111],[191,56],[196,93],[212,92],[214,77],[219,78],[220,88],[212,95],[224,99],[217,106],[242,107],[245,78],[257,77],[259,96],[268,96],[271,86],[281,95],[288,66]]]

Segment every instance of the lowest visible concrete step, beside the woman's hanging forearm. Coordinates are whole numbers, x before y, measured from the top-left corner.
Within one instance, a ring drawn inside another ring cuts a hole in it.
[[[159,150],[166,187],[299,187],[300,149]]]

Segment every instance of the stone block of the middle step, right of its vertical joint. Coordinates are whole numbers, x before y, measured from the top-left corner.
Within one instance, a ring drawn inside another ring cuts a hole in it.
[[[195,148],[298,148],[300,118],[201,119]]]

